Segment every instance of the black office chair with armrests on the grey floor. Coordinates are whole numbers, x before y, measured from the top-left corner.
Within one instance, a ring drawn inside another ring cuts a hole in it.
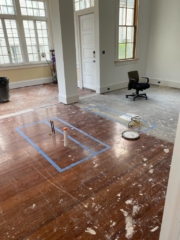
[[[142,77],[142,78],[147,79],[147,83],[139,83],[138,71],[128,72],[128,77],[129,77],[128,90],[136,89],[136,92],[132,93],[132,94],[127,94],[126,98],[133,97],[133,101],[135,101],[136,98],[141,97],[141,98],[145,98],[147,100],[146,93],[139,93],[139,91],[143,91],[147,88],[150,88],[149,78]]]

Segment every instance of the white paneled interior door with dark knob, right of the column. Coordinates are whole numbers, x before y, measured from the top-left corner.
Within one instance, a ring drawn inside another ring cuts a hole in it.
[[[82,86],[96,89],[96,59],[94,41],[94,14],[80,17]]]

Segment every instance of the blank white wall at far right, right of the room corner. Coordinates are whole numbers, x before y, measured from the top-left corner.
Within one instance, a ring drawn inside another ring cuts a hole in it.
[[[180,87],[180,1],[152,0],[147,75]]]

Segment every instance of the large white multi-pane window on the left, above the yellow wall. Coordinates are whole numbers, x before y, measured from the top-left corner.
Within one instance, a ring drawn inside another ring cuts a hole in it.
[[[0,1],[0,66],[50,59],[46,0]]]

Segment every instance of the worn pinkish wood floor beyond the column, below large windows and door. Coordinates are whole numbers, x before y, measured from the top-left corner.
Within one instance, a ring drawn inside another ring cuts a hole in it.
[[[78,88],[78,94],[79,97],[85,97],[94,94],[94,92]],[[10,102],[0,104],[0,117],[27,109],[38,109],[58,104],[58,85],[50,83],[11,89],[10,99]]]

